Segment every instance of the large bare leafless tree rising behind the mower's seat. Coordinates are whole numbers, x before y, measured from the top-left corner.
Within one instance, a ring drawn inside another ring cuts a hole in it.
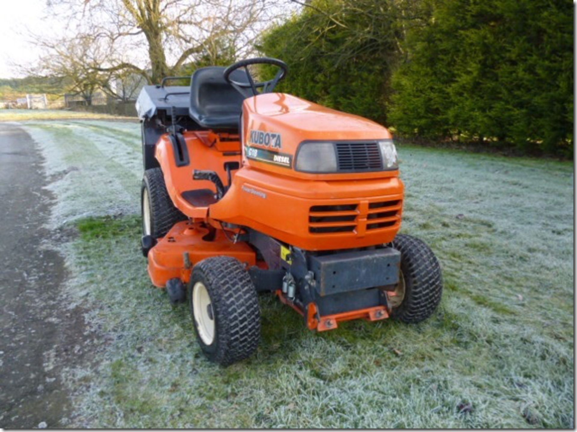
[[[69,39],[91,40],[106,58],[90,67],[130,73],[159,83],[196,57],[219,55],[222,41],[235,56],[252,50],[262,29],[285,13],[275,0],[50,0],[51,14],[66,16]],[[60,41],[44,41],[58,52]]]

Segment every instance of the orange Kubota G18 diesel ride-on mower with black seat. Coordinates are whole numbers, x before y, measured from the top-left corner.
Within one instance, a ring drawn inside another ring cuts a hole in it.
[[[257,82],[250,65],[278,73]],[[173,304],[189,302],[198,343],[221,365],[256,350],[257,293],[316,331],[417,323],[441,299],[433,252],[397,234],[404,186],[387,128],[274,93],[286,73],[271,58],[203,67],[190,87],[165,78],[137,100],[148,273]]]

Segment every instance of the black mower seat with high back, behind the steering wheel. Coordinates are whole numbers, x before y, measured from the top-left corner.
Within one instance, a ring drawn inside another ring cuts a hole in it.
[[[189,113],[202,127],[237,130],[244,97],[224,80],[224,69],[209,66],[192,74]],[[240,70],[234,71],[231,78],[247,81]]]

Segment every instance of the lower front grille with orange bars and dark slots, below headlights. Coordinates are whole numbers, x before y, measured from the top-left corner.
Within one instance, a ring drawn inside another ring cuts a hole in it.
[[[360,203],[335,206],[312,206],[309,212],[309,232],[312,234],[352,233],[359,230],[388,228],[400,222],[402,201],[377,201],[364,206]]]

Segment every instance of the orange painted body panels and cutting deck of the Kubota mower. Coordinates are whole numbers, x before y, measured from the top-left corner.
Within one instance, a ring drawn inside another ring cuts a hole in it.
[[[250,142],[250,131],[280,134],[282,147],[268,150],[292,155],[292,166],[250,158],[247,151],[258,146]],[[187,166],[174,163],[175,150],[168,135],[157,143],[155,156],[168,194],[190,222],[175,225],[149,252],[148,271],[156,286],[163,287],[170,278],[188,282],[190,268],[185,266],[185,252],[192,266],[209,256],[228,255],[247,267],[267,267],[264,262],[257,262],[256,252],[249,244],[233,244],[229,238],[234,230],[224,233],[223,223],[248,227],[305,251],[365,248],[395,238],[404,198],[398,170],[318,174],[294,169],[295,155],[303,141],[391,139],[386,128],[288,94],[268,93],[244,101],[240,135],[242,142],[239,135],[183,132],[190,154]],[[228,184],[225,164],[234,162],[239,169],[234,170]],[[228,187],[222,199],[204,205],[187,199],[189,191],[215,192],[211,182],[192,179],[195,169],[212,170],[219,175]],[[331,221],[319,222],[327,217]],[[343,222],[341,217],[354,219]],[[208,233],[203,226],[217,229],[215,241],[203,240]],[[325,232],[332,227],[342,227],[343,232]],[[290,304],[282,293],[279,297]],[[305,313],[302,308],[293,307]],[[325,330],[336,328],[339,321],[347,319],[388,317],[383,306],[365,309],[310,320],[308,327]]]

